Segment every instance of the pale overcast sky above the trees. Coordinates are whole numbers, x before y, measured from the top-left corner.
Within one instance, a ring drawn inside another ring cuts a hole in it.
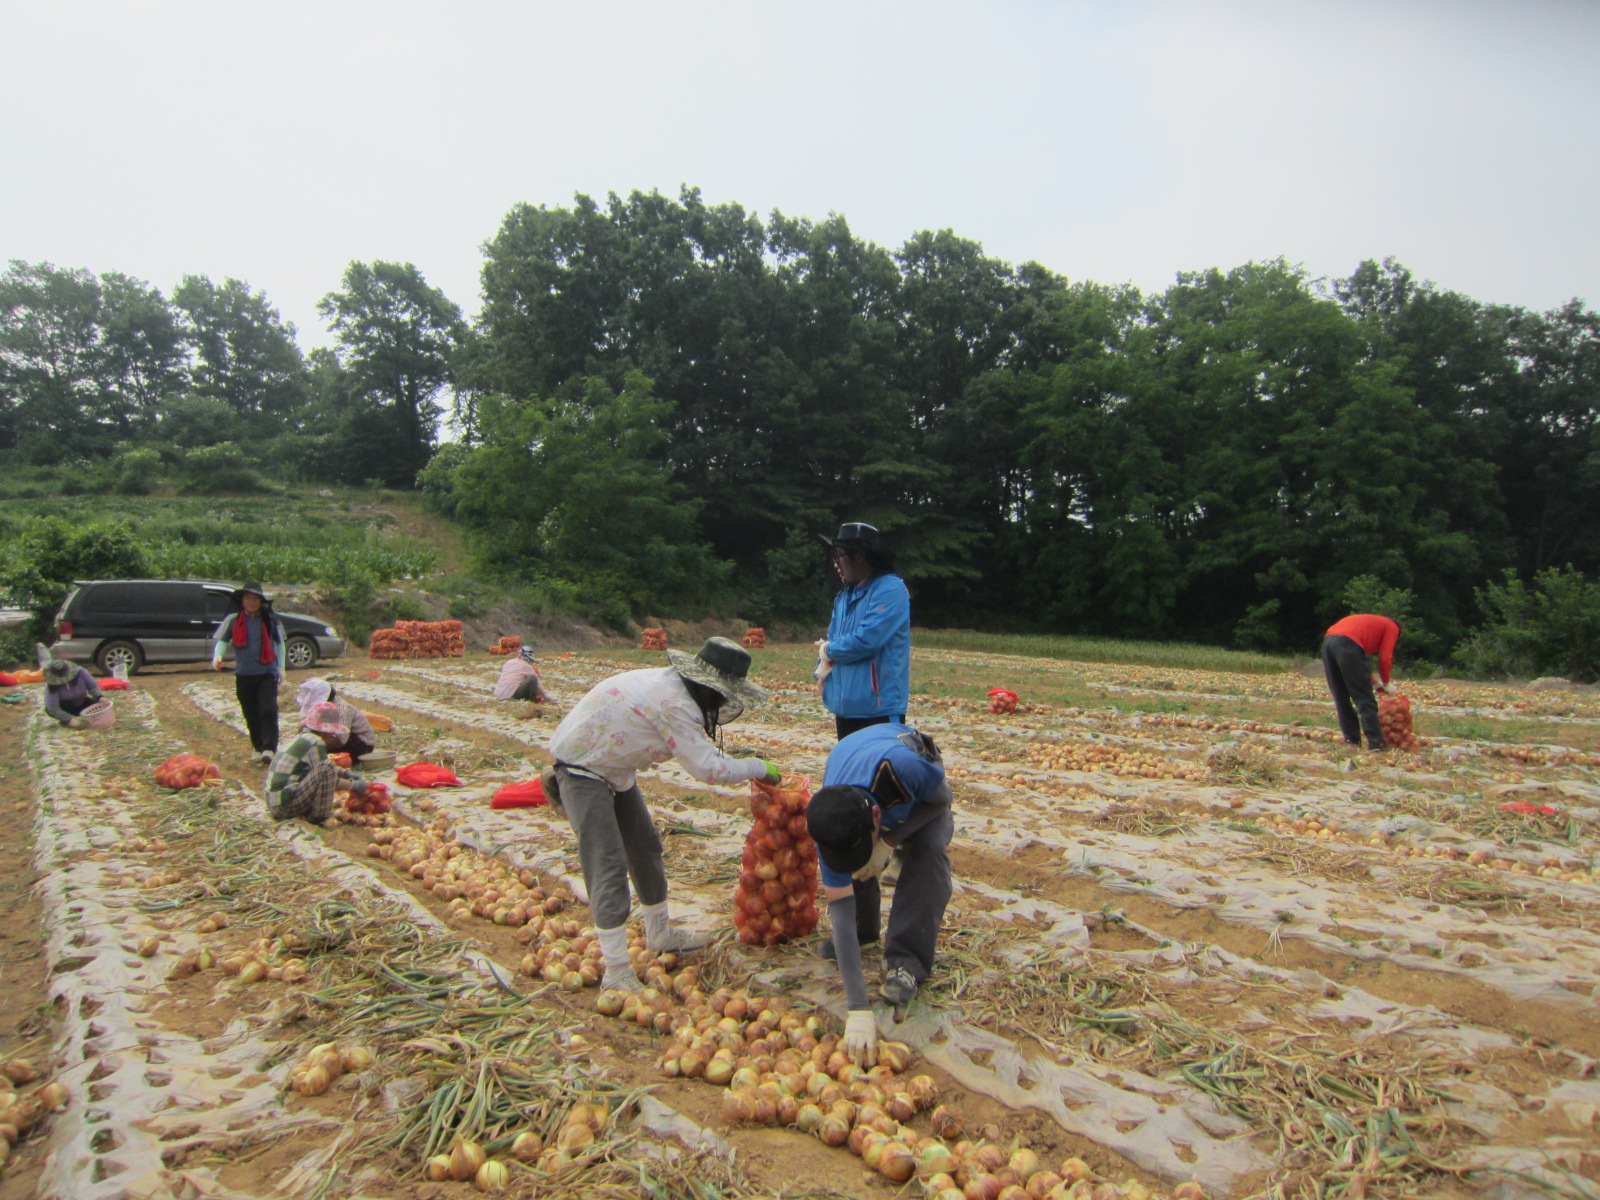
[[[683,184],[1150,291],[1394,256],[1600,307],[1600,3],[0,8],[0,256],[248,280],[328,342],[350,259],[469,315],[517,202]]]

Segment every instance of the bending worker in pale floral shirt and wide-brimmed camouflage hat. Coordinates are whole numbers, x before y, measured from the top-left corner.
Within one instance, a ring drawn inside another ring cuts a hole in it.
[[[750,654],[725,637],[707,638],[698,654],[669,650],[670,667],[627,670],[602,680],[555,726],[544,790],[578,834],[578,861],[589,910],[600,938],[602,987],[637,992],[627,957],[629,878],[643,906],[646,946],[661,954],[704,946],[672,926],[661,835],[638,790],[638,771],[669,758],[706,784],[747,779],[778,782],[763,758],[731,758],[717,728],[766,693],[749,682]]]

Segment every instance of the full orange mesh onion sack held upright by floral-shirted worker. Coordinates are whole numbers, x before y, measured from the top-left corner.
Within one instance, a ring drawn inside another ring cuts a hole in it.
[[[778,946],[816,928],[816,843],[806,832],[811,781],[750,781],[750,832],[733,893],[733,923],[747,946]]]

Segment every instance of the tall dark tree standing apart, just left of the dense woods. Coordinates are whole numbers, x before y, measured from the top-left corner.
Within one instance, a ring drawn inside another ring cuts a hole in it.
[[[365,403],[355,424],[382,446],[373,477],[411,486],[432,454],[438,394],[453,381],[467,336],[461,309],[410,262],[352,262],[342,291],[330,291],[317,310]]]

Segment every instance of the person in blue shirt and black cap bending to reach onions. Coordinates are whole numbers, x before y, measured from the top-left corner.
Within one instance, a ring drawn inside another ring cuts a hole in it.
[[[827,755],[806,826],[822,861],[822,894],[834,925],[822,957],[838,963],[850,1008],[843,1050],[870,1061],[877,1026],[861,947],[878,939],[878,875],[898,854],[901,869],[883,944],[883,998],[891,1005],[909,1003],[933,973],[950,901],[955,822],[950,784],[933,739],[907,725],[869,725],[846,736]]]

